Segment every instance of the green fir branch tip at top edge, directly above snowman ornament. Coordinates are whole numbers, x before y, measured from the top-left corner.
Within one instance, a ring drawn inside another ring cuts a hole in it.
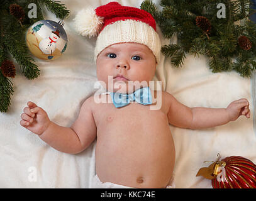
[[[64,4],[61,4],[60,1],[53,0],[37,0],[40,6],[45,6],[49,11],[54,13],[57,18],[65,19],[69,16],[70,11],[65,7]]]

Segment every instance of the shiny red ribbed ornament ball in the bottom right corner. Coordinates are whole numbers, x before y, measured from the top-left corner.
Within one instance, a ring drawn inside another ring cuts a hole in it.
[[[225,180],[211,180],[213,188],[256,188],[256,165],[242,156],[221,160],[225,164]]]

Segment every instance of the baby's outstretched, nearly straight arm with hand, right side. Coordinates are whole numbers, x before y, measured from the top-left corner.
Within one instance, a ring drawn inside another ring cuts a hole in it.
[[[249,102],[240,99],[231,102],[227,108],[213,109],[208,107],[187,107],[177,101],[171,94],[167,94],[169,123],[189,129],[211,128],[235,121],[239,116],[250,117]]]

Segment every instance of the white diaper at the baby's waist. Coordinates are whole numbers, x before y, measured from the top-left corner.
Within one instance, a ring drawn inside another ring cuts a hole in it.
[[[101,182],[101,180],[99,180],[99,177],[97,177],[97,175],[95,175],[92,178],[92,183],[91,183],[91,188],[133,188],[133,187],[126,187],[123,185],[119,185],[116,183],[111,183],[111,182]],[[172,185],[168,185],[166,188],[175,188],[174,183],[172,183]]]

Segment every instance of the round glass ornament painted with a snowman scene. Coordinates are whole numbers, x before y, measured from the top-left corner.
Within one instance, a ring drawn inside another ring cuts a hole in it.
[[[67,34],[63,21],[41,20],[28,28],[26,45],[30,52],[42,60],[55,60],[67,48]]]

